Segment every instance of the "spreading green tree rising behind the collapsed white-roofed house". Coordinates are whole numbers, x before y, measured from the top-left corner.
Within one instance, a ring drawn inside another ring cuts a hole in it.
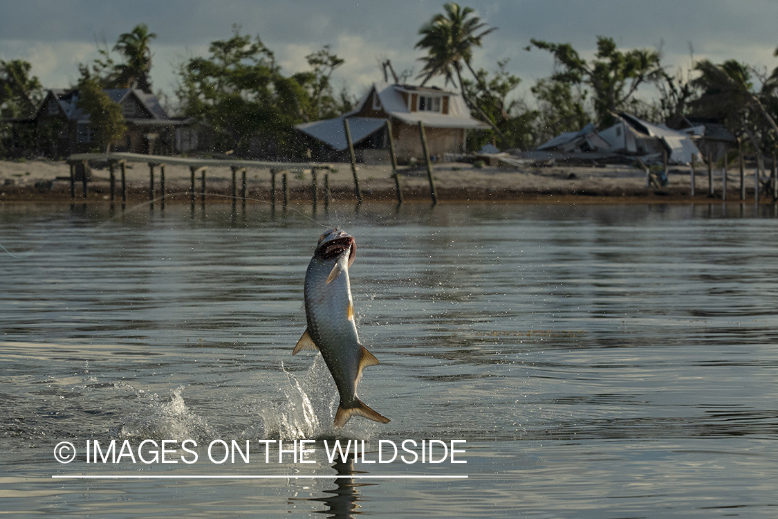
[[[531,43],[553,54],[561,70],[552,75],[552,79],[591,86],[594,113],[601,126],[612,124],[612,114],[629,106],[638,86],[656,81],[662,74],[659,52],[649,49],[622,52],[608,37],[597,37],[597,53],[591,61],[581,58],[571,44],[534,39]]]

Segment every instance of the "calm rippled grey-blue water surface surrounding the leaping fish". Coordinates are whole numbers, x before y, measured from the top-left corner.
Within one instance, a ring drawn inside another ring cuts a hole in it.
[[[773,206],[338,205],[317,219],[356,237],[357,327],[380,360],[359,395],[387,425],[332,430],[321,357],[291,356],[324,226],[261,205],[0,205],[16,256],[0,256],[0,510],[778,514]],[[86,461],[87,441],[138,454],[187,439],[195,463]],[[265,463],[258,442],[303,439],[312,464],[275,447]],[[366,454],[330,462],[335,439]],[[467,463],[366,462],[406,439],[419,456],[422,440],[466,440]],[[209,461],[214,440],[250,442],[251,461]],[[54,458],[62,441],[75,461]],[[283,477],[235,477],[261,475]]]

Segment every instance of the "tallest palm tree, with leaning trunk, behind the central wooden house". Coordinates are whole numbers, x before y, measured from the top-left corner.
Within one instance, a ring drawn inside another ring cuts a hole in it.
[[[484,110],[473,102],[464,88],[462,82],[462,63],[468,68],[479,86],[481,78],[472,68],[473,47],[481,47],[482,38],[496,30],[496,27],[488,27],[470,7],[462,8],[460,5],[449,2],[443,4],[445,14],[438,13],[429,22],[422,25],[419,34],[422,39],[416,42],[415,48],[426,49],[427,55],[421,58],[424,61],[419,78],[423,77],[422,86],[436,75],[445,77],[444,84],[455,84],[454,75],[461,89],[462,97],[472,109],[478,111],[483,120],[492,127],[500,139],[505,140],[503,132],[499,131],[494,122],[485,114]],[[473,15],[473,16],[471,16]]]

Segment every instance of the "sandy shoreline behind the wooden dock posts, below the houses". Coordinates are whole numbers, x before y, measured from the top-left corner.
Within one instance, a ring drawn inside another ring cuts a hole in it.
[[[618,167],[531,167],[506,169],[501,167],[474,168],[462,163],[437,163],[434,178],[439,202],[562,202],[562,203],[629,203],[629,202],[699,202],[710,201],[706,170],[696,172],[696,196],[690,196],[689,169],[673,168],[669,185],[662,188],[646,187],[643,170]],[[747,199],[753,200],[753,174],[747,171]],[[70,201],[70,170],[64,161],[27,160],[0,161],[0,202]],[[358,167],[359,184],[364,202],[392,202],[397,200],[391,167]],[[165,170],[166,198],[170,202],[188,202],[191,198],[191,173],[185,166],[167,166]],[[93,169],[86,199],[82,183],[75,186],[79,202],[110,200],[110,174],[106,169]],[[128,200],[149,199],[149,167],[145,163],[128,164]],[[310,170],[287,174],[289,198],[311,200]],[[429,202],[429,181],[426,170],[405,171],[401,177],[405,202]],[[324,174],[317,175],[318,200],[324,201]],[[715,198],[720,199],[721,172],[714,178]],[[269,201],[271,197],[269,170],[247,171],[247,198]],[[282,199],[282,177],[276,176],[277,201]],[[338,164],[337,172],[329,174],[332,202],[356,201],[351,165]],[[155,170],[155,194],[159,196],[159,167]],[[195,178],[198,201],[202,191],[202,177]],[[209,167],[206,172],[206,192],[209,202],[229,201],[232,195],[232,172],[229,167]],[[240,176],[238,194],[240,195]],[[220,195],[220,196],[219,196]],[[121,199],[118,181],[114,197]],[[739,202],[740,177],[737,171],[727,176],[727,200]],[[772,198],[760,197],[761,202]]]

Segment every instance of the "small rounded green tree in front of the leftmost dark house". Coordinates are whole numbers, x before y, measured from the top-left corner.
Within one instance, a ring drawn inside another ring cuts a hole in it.
[[[76,106],[89,114],[89,128],[96,137],[96,144],[109,153],[110,145],[124,137],[127,132],[127,124],[119,103],[103,92],[99,82],[84,79],[79,83],[79,100]]]

